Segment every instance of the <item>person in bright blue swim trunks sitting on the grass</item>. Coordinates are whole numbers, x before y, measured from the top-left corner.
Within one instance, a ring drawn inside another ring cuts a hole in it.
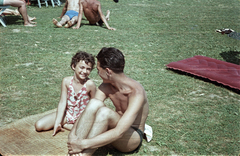
[[[53,24],[61,28],[64,24],[67,23],[64,27],[69,28],[77,23],[78,12],[79,0],[66,0],[62,14],[60,16],[60,18],[62,18],[61,21],[58,22],[55,18],[53,18]]]

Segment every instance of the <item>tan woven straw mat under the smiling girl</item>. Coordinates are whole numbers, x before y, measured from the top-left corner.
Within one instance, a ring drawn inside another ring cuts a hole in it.
[[[0,127],[2,155],[66,155],[68,130],[52,136],[53,131],[36,132],[35,122],[51,110]]]

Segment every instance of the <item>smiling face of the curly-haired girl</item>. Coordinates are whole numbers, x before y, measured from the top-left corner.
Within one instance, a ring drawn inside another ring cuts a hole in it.
[[[88,64],[85,63],[85,61],[80,60],[76,67],[74,67],[74,65],[72,65],[72,69],[75,72],[75,75],[79,78],[79,79],[86,79],[88,78],[89,74],[92,71],[92,64],[89,62]]]

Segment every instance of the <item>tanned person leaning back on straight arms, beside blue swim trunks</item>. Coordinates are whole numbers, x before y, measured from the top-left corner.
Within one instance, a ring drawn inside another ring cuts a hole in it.
[[[101,4],[99,1],[97,0],[79,0],[79,1],[80,9],[78,22],[77,25],[73,27],[73,29],[80,28],[82,16],[84,13],[85,17],[89,21],[89,24],[92,25],[99,24],[100,26],[102,26],[102,24],[105,23],[106,27],[109,30],[116,30],[115,28],[110,27],[107,23],[107,20],[109,20],[110,11],[109,10],[107,11],[107,15],[105,17],[102,13]]]

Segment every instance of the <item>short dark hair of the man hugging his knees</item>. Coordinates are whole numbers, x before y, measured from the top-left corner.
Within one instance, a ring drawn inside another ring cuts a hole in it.
[[[103,47],[97,55],[100,67],[109,68],[115,73],[122,73],[125,65],[123,53],[113,47]]]

